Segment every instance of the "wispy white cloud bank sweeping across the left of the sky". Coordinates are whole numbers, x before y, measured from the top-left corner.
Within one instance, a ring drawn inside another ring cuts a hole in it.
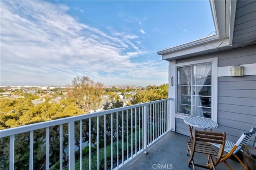
[[[0,3],[1,85],[65,86],[76,76],[111,85],[167,78],[167,62],[134,59],[150,54],[134,45],[140,44],[136,35],[107,34],[67,14],[67,6],[48,1]]]

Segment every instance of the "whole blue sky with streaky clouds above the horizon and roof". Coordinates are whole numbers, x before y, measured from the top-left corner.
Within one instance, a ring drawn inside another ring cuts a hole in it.
[[[168,83],[157,51],[214,31],[202,1],[1,1],[1,86]]]

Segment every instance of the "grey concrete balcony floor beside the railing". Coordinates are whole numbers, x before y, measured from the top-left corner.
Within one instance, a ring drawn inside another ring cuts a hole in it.
[[[188,136],[176,132],[168,132],[147,149],[147,154],[140,153],[122,166],[120,170],[193,170],[192,165],[188,166],[190,154],[186,155],[188,149],[187,140],[189,140]],[[196,164],[206,164],[207,156],[195,153],[194,162]],[[233,170],[243,169],[242,165],[237,161],[228,159],[227,162]],[[196,170],[206,170],[198,166],[195,168]],[[228,167],[222,162],[216,166],[216,170],[228,170]]]

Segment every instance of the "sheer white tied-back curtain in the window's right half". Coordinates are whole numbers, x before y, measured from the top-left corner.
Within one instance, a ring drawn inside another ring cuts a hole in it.
[[[196,74],[210,74],[212,70],[212,65],[211,64],[204,64],[204,65],[199,65],[195,66]],[[204,85],[206,80],[207,80],[208,75],[202,75],[202,76],[195,76],[194,77],[194,85]],[[199,95],[199,92],[202,90],[204,86],[195,86],[195,95]],[[195,106],[202,106],[202,101],[199,96],[194,96],[194,105]],[[195,116],[201,116],[204,117],[203,113],[203,108],[201,107],[194,107],[194,115]]]

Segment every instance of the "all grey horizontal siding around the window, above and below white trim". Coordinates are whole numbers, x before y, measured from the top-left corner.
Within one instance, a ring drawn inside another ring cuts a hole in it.
[[[218,57],[218,67],[256,63],[256,46],[176,60],[176,63]],[[256,69],[256,68],[255,68]],[[226,132],[236,142],[243,132],[256,127],[256,75],[218,77],[218,124],[216,132]],[[202,130],[202,129],[200,129]],[[176,132],[189,136],[188,125],[176,118]],[[252,144],[255,135],[250,139]]]

